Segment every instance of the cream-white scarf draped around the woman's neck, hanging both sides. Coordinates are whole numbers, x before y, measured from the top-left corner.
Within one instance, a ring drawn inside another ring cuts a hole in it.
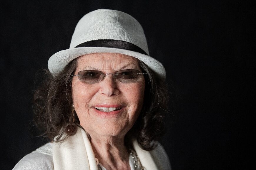
[[[150,152],[143,150],[136,140],[133,147],[144,169],[163,168],[157,166]],[[91,143],[82,128],[78,128],[77,133],[65,142],[53,145],[53,165],[54,170],[98,170]]]

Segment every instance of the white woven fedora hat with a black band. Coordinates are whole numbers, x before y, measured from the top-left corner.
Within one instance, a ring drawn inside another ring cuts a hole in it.
[[[48,68],[57,74],[73,59],[90,53],[120,53],[138,58],[165,80],[164,66],[149,56],[147,40],[140,23],[121,11],[98,9],[77,23],[70,47],[52,55]]]

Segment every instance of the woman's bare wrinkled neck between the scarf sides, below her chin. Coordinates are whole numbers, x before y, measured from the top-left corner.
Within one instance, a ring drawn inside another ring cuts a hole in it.
[[[130,169],[129,150],[124,144],[124,137],[93,137],[92,149],[95,158],[106,169]]]

